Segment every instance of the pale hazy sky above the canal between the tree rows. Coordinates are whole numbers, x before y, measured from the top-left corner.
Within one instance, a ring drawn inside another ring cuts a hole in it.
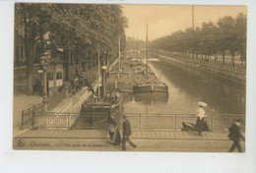
[[[192,27],[192,6],[189,5],[122,5],[128,19],[126,36],[145,40],[148,20],[149,40],[171,34],[176,30]],[[247,14],[246,6],[194,6],[194,25],[217,23],[224,16]]]

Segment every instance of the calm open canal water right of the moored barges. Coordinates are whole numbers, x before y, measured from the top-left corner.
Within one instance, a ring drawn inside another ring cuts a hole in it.
[[[149,66],[168,86],[168,94],[126,94],[124,112],[195,114],[198,101],[208,104],[206,114],[245,114],[245,88],[214,79],[171,61],[160,59]]]

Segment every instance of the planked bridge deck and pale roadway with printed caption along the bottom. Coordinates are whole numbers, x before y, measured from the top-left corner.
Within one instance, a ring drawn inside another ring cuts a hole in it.
[[[173,136],[158,136],[156,132],[134,131],[131,140],[137,144],[137,147],[133,148],[127,144],[127,151],[226,152],[231,145],[231,141],[226,138],[226,133],[206,132],[203,137],[198,137],[193,132],[162,131],[158,133],[171,133]],[[212,136],[215,138],[211,138]],[[21,146],[20,142],[25,144]],[[241,142],[241,144],[244,148],[244,143]],[[121,144],[108,144],[107,130],[28,131],[16,137],[13,146],[15,149],[121,151]]]

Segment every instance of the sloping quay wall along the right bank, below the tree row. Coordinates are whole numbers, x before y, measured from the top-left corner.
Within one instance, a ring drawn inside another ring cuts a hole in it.
[[[157,54],[154,54],[157,55]],[[160,55],[159,58],[174,62],[178,65],[184,66],[189,69],[196,70],[204,75],[211,75],[234,85],[245,87],[246,73],[245,70],[237,69],[230,66],[221,65],[214,62],[200,61],[198,59],[189,58],[173,58],[170,56]]]

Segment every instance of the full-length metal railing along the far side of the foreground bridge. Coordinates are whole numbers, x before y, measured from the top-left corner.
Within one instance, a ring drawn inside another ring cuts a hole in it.
[[[180,131],[182,122],[196,123],[195,114],[153,114],[153,113],[125,113],[135,130],[168,130]],[[79,113],[34,113],[32,114],[32,129],[64,128],[64,129],[107,129],[108,114],[79,114]],[[120,117],[120,116],[119,116]],[[245,122],[244,115],[210,115],[206,118],[211,131],[227,131],[228,127],[240,118]],[[119,127],[122,121],[117,118]],[[242,128],[244,130],[244,126]]]

